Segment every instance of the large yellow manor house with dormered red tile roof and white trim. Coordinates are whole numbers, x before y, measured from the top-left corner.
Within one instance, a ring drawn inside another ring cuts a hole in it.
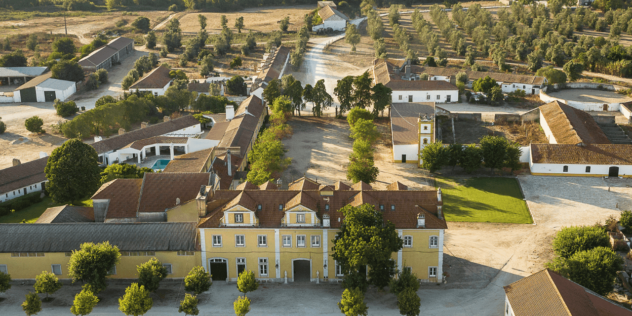
[[[387,190],[372,190],[362,182],[332,186],[301,178],[288,190],[271,182],[246,182],[236,190],[210,186],[197,200],[202,262],[214,280],[236,281],[239,272],[253,270],[262,281],[339,281],[343,274],[331,257],[343,221],[339,210],[367,203],[393,222],[404,240],[393,255],[398,269],[411,267],[425,282],[443,279],[447,224],[441,189],[408,190],[395,182]]]

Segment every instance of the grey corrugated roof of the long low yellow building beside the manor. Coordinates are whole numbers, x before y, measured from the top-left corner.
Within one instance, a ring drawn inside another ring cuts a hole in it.
[[[120,251],[196,250],[195,222],[0,224],[0,253],[70,252],[109,241]]]

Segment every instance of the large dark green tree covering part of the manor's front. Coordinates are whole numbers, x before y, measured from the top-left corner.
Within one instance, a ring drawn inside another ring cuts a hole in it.
[[[348,281],[347,276],[353,276],[351,272],[357,272],[367,265],[370,270],[374,267],[379,269],[391,260],[392,253],[402,248],[404,241],[399,238],[394,224],[385,222],[375,205],[346,205],[341,212],[344,221],[334,238],[332,257],[341,265],[345,282]],[[391,273],[388,279],[392,278],[394,271]]]

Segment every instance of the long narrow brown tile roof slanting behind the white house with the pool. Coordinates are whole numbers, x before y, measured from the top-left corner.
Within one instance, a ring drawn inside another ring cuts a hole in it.
[[[90,146],[97,150],[97,154],[104,154],[110,150],[117,150],[133,143],[137,140],[143,140],[150,137],[157,137],[174,131],[181,130],[185,127],[200,124],[192,115],[181,116],[166,122],[140,128],[138,130],[128,131],[123,135],[116,135],[99,142],[91,143]]]

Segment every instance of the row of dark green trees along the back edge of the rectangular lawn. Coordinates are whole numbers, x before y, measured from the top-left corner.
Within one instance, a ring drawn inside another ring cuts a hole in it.
[[[480,147],[475,144],[454,143],[445,147],[441,142],[429,143],[422,149],[422,167],[435,172],[444,166],[461,166],[467,173],[476,171],[483,162],[490,171],[507,167],[519,170],[522,149],[517,143],[500,136],[485,136],[480,139]]]

